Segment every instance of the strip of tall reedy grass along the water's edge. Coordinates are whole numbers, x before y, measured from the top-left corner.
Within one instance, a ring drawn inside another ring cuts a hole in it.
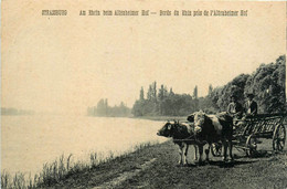
[[[102,165],[109,165],[111,161],[117,159],[125,159],[130,156],[130,154],[137,154],[145,148],[156,145],[157,143],[142,143],[131,146],[129,150],[121,154],[109,154],[103,157],[103,154],[91,153],[89,161],[74,160],[72,154],[68,156],[62,155],[52,162],[46,162],[43,165],[42,171],[36,175],[26,175],[23,172],[15,172],[11,175],[9,171],[1,171],[1,188],[10,189],[33,189],[33,188],[54,188],[59,183],[65,181],[67,178],[74,175],[81,175],[83,172],[88,172],[95,167],[100,167]],[[57,188],[57,187],[56,187]],[[62,187],[61,187],[62,188]],[[74,187],[72,187],[74,188]]]

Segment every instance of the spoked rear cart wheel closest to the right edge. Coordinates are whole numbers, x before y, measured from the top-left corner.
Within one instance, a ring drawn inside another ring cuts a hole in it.
[[[283,151],[286,140],[286,129],[284,125],[277,125],[273,134],[273,150]]]

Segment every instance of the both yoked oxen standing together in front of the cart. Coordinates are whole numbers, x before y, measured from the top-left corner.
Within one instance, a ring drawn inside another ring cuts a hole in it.
[[[226,113],[216,115],[208,115],[204,112],[195,112],[188,116],[189,123],[166,123],[157,135],[164,137],[172,137],[173,143],[179,145],[179,164],[187,165],[187,156],[189,145],[194,146],[194,160],[199,164],[203,162],[203,146],[209,145],[205,149],[206,161],[209,161],[209,153],[212,144],[222,143],[223,145],[223,160],[227,161],[227,148],[230,149],[230,158],[233,161],[232,155],[232,135],[233,135],[233,118]]]

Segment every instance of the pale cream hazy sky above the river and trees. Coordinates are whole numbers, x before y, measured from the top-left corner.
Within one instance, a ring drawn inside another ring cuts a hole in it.
[[[286,53],[285,2],[2,2],[1,106],[85,114],[129,107],[157,81],[199,95]],[[66,17],[42,17],[66,9]],[[248,17],[81,17],[79,10],[248,10]]]

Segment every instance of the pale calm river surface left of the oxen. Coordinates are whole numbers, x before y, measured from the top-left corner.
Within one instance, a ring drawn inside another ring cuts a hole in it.
[[[1,169],[39,172],[62,154],[83,160],[89,153],[127,151],[140,143],[164,141],[162,122],[75,116],[2,116]]]

